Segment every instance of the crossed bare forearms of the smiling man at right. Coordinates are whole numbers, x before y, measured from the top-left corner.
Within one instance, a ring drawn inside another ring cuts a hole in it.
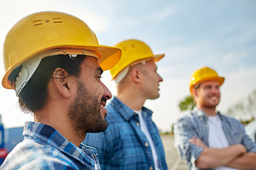
[[[193,137],[190,142],[204,148],[196,159],[196,166],[199,168],[227,166],[234,169],[256,169],[256,153],[247,153],[243,145],[238,144],[217,149],[207,147],[198,137]]]

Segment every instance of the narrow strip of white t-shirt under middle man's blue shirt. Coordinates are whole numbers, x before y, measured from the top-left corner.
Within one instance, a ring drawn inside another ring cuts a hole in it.
[[[154,142],[153,142],[152,137],[149,133],[149,129],[147,128],[146,123],[144,121],[144,118],[142,116],[142,110],[134,111],[134,112],[139,115],[140,127],[142,129],[142,132],[144,132],[144,134],[146,135],[146,139],[149,141],[149,145],[151,147],[151,151],[152,151],[152,154],[153,154],[155,169],[160,170],[159,164],[158,164],[158,157],[157,157],[157,154],[156,154],[156,148],[154,147]]]

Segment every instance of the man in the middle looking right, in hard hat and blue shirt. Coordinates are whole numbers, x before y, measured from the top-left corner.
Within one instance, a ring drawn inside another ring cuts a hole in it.
[[[117,84],[117,95],[106,106],[108,128],[89,133],[84,143],[96,147],[102,169],[167,169],[159,130],[151,120],[152,111],[144,107],[146,99],[159,98],[154,55],[140,40],[124,40],[121,60],[110,69]]]

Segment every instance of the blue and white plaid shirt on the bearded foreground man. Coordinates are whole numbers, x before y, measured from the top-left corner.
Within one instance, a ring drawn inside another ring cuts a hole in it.
[[[49,125],[27,122],[23,135],[0,169],[100,169],[94,148],[76,147]]]

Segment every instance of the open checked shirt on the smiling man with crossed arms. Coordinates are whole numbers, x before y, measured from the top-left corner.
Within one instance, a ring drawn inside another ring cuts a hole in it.
[[[218,114],[228,144],[242,144],[246,147],[247,152],[256,152],[256,144],[245,134],[244,126],[234,118],[221,115],[219,112]],[[205,145],[209,146],[208,116],[198,108],[194,108],[189,115],[185,115],[174,125],[174,145],[178,154],[186,161],[189,169],[198,169],[195,162],[203,152],[203,148],[189,142],[194,136],[200,138]]]

